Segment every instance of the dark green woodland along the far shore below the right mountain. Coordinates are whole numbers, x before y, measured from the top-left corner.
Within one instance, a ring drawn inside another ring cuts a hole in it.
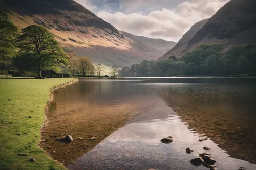
[[[224,52],[224,44],[201,44],[182,57],[123,67],[120,76],[238,76],[256,75],[256,46],[241,44]]]

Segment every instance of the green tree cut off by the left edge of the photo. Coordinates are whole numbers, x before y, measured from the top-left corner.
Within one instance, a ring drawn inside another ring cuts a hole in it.
[[[0,64],[7,64],[7,60],[18,55],[14,41],[17,30],[8,14],[0,10]]]

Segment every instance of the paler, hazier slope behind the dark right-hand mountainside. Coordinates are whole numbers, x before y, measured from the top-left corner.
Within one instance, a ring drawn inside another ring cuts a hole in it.
[[[182,56],[185,52],[189,51],[188,43],[193,38],[193,36],[197,33],[198,30],[200,30],[205,23],[208,21],[208,19],[201,20],[197,23],[195,23],[194,26],[190,28],[179,40],[179,42],[173,47],[170,51],[166,52],[162,57],[159,58],[159,60],[166,60],[170,56]]]

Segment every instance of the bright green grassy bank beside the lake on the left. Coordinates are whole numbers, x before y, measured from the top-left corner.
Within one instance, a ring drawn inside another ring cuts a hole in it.
[[[64,169],[37,144],[49,90],[72,80],[0,79],[0,169]],[[35,162],[29,161],[32,156]]]

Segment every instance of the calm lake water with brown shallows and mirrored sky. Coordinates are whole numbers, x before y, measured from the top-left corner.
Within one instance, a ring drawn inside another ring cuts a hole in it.
[[[54,93],[43,137],[73,135],[74,145],[46,143],[55,159],[74,161],[68,169],[207,169],[189,162],[200,153],[217,169],[256,169],[255,87],[255,78],[80,80]],[[161,143],[167,136],[174,141]]]

